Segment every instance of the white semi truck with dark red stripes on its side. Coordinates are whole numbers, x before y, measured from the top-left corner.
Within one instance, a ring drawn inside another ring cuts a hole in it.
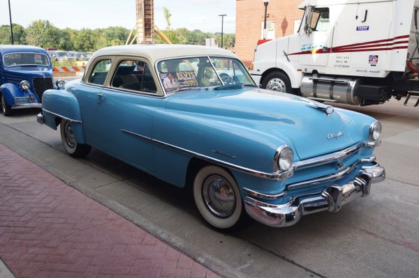
[[[392,96],[407,96],[407,105],[419,96],[419,0],[307,0],[299,8],[297,33],[256,47],[250,72],[262,88],[350,105]]]

